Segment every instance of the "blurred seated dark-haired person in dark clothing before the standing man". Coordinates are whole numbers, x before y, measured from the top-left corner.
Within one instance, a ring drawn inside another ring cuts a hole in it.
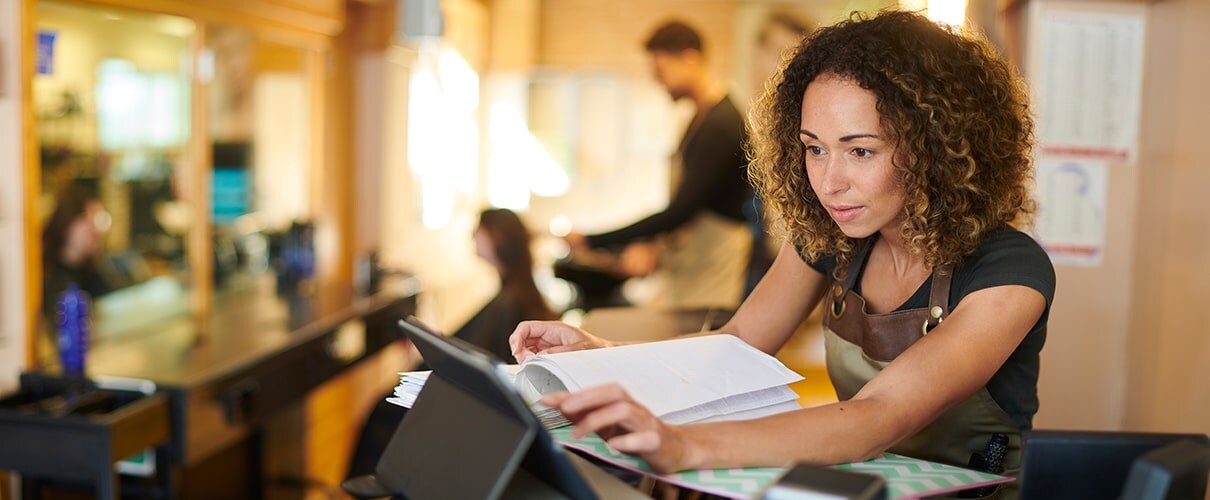
[[[500,292],[454,337],[483,347],[501,360],[511,360],[508,335],[524,320],[555,320],[559,317],[542,297],[534,282],[534,254],[530,232],[517,213],[503,208],[485,209],[479,214],[474,230],[474,248],[479,258],[496,269]],[[421,366],[417,369],[427,369]],[[393,389],[382,396],[365,420],[362,435],[346,477],[373,473],[379,455],[386,448],[407,408],[386,402]]]

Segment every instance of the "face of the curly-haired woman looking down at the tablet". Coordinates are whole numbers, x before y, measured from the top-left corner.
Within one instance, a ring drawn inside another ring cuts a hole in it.
[[[799,138],[811,189],[848,237],[898,234],[905,192],[892,162],[874,92],[822,74],[802,96]]]

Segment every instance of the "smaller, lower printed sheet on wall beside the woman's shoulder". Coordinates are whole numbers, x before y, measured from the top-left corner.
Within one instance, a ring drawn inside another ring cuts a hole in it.
[[[1054,264],[1096,266],[1105,253],[1108,167],[1104,162],[1038,159],[1038,242]]]

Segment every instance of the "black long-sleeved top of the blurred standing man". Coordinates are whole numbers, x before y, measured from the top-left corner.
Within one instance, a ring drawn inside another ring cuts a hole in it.
[[[610,247],[652,237],[679,228],[701,211],[743,222],[744,203],[751,200],[744,155],[747,137],[739,110],[730,97],[722,98],[686,138],[681,180],[668,207],[626,228],[589,235],[588,245]]]

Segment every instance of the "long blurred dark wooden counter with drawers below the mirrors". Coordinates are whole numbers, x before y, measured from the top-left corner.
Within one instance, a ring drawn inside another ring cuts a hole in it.
[[[415,312],[420,293],[408,277],[386,280],[371,295],[322,286],[278,294],[270,275],[244,285],[220,294],[209,317],[160,314],[154,308],[175,298],[152,298],[154,305],[127,304],[127,316],[111,315],[93,333],[90,379],[110,386],[114,378],[150,380],[168,396],[172,464],[230,449],[399,340],[396,323]]]

